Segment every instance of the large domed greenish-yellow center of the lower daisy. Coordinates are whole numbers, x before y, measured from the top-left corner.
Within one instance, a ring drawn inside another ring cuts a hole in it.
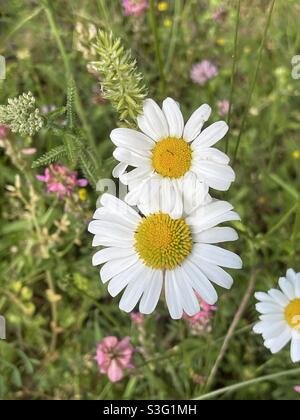
[[[135,234],[135,249],[151,268],[173,270],[192,251],[193,241],[189,226],[183,219],[172,219],[168,214],[152,214],[139,224]]]

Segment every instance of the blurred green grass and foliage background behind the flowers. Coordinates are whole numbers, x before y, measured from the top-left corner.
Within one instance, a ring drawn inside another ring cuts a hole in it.
[[[230,96],[236,1],[169,1],[156,10],[165,81],[156,63],[153,27],[142,18],[124,17],[118,0],[1,1],[0,54],[7,63],[0,99],[32,91],[40,108],[65,106],[72,74],[77,90],[76,124],[92,150],[97,176],[110,177],[114,166],[112,128],[118,115],[96,91],[97,77],[87,71],[93,61],[76,48],[76,24],[90,23],[112,31],[132,50],[149,95],[169,95],[182,104],[187,117],[209,103],[212,121],[220,117],[217,102]],[[0,342],[0,396],[5,399],[180,399],[207,392],[195,376],[209,376],[224,336],[245,294],[251,276],[256,289],[275,286],[288,267],[300,271],[300,80],[291,77],[291,59],[300,53],[297,0],[275,2],[271,24],[253,90],[259,47],[271,1],[241,1],[233,107],[228,136],[237,182],[226,193],[242,217],[240,240],[232,249],[244,260],[234,273],[235,285],[222,291],[212,332],[194,336],[186,321],[172,321],[163,303],[147,317],[145,331],[118,309],[91,266],[91,218],[97,194],[67,203],[47,195],[35,180],[32,157],[61,145],[61,138],[42,130],[33,138],[9,136],[0,153],[0,314],[7,319],[7,340]],[[212,20],[221,4],[225,17]],[[168,23],[168,21],[170,21]],[[170,26],[171,23],[171,26]],[[189,77],[191,66],[213,61],[219,75],[199,87]],[[161,69],[160,69],[161,70]],[[244,120],[244,122],[243,122]],[[241,132],[242,128],[242,132]],[[225,148],[225,142],[220,144]],[[219,194],[219,197],[222,197]],[[271,356],[254,336],[254,299],[239,321],[217,372],[213,389],[295,369],[288,349]],[[111,384],[93,359],[96,343],[107,335],[132,336],[136,366]],[[293,386],[300,375],[284,375],[241,386],[216,398],[296,399]]]

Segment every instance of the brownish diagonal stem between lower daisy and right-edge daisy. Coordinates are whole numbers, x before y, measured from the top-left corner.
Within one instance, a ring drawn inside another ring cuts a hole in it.
[[[228,332],[227,332],[227,334],[225,336],[225,339],[224,339],[223,345],[221,347],[221,350],[220,350],[220,352],[218,354],[218,357],[217,357],[217,359],[215,361],[215,364],[214,364],[214,366],[213,366],[213,368],[212,368],[212,370],[211,370],[211,372],[209,374],[209,377],[207,379],[206,389],[208,389],[208,390],[213,385],[213,382],[214,382],[215,377],[216,377],[216,375],[218,373],[219,367],[220,367],[220,365],[221,365],[221,363],[223,361],[223,358],[224,358],[224,356],[225,356],[225,354],[227,352],[227,349],[229,347],[229,343],[230,343],[230,341],[231,341],[231,339],[232,339],[232,337],[234,335],[234,332],[236,330],[236,327],[238,326],[238,323],[240,322],[240,320],[241,320],[241,318],[242,318],[242,316],[243,316],[243,314],[245,312],[245,309],[246,309],[246,307],[248,305],[249,299],[251,298],[251,295],[253,293],[253,290],[254,290],[254,287],[255,287],[255,283],[256,283],[257,273],[258,273],[258,270],[257,269],[255,269],[251,273],[251,276],[250,276],[250,280],[249,280],[249,284],[248,284],[246,293],[245,293],[245,295],[243,297],[243,300],[242,300],[242,302],[241,302],[241,304],[240,304],[240,306],[239,306],[239,308],[238,308],[238,310],[237,310],[237,312],[236,312],[236,314],[235,314],[235,316],[233,318],[233,321],[232,321],[232,323],[231,323],[231,325],[230,325],[230,327],[228,329]]]

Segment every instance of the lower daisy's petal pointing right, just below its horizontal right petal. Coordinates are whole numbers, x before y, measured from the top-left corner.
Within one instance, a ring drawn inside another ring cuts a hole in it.
[[[193,252],[198,258],[221,267],[240,269],[243,266],[238,255],[215,245],[195,244]]]

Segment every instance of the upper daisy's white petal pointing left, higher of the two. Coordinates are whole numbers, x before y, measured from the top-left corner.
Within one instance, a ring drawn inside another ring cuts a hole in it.
[[[155,146],[154,141],[148,136],[130,128],[115,128],[110,138],[116,146],[136,152],[149,151]]]

